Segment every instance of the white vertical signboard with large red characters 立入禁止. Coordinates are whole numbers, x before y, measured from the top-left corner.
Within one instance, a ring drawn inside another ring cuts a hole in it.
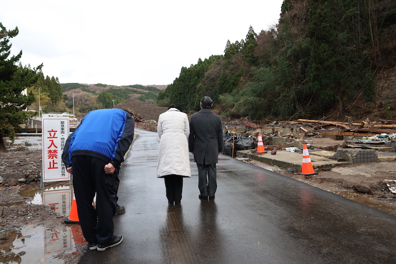
[[[43,117],[43,182],[70,180],[70,174],[62,162],[69,131],[69,117]]]

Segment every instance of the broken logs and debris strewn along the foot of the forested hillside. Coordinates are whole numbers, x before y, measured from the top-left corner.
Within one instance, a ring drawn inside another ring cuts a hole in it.
[[[241,138],[251,137],[257,148],[257,135],[261,133],[265,149],[269,151],[301,148],[303,144],[307,144],[312,145],[313,148],[336,152],[338,148],[360,148],[359,144],[364,143],[386,144],[393,147],[386,151],[396,151],[396,129],[391,129],[396,128],[396,121],[393,120],[370,122],[366,119],[360,123],[308,119],[267,121],[267,124],[263,125],[263,121],[248,121],[246,117],[233,121],[223,120],[225,135],[230,135],[232,131]],[[238,136],[234,136],[234,145],[232,145],[232,136],[225,138],[226,155],[235,157],[235,150],[239,149],[235,143],[235,139],[239,139]],[[233,149],[234,152],[229,151],[228,148]]]

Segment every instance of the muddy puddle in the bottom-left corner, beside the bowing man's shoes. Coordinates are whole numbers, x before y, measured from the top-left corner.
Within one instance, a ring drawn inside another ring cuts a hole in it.
[[[18,230],[0,232],[0,263],[63,264],[58,253],[78,252],[86,246],[79,225],[48,229],[24,226]]]

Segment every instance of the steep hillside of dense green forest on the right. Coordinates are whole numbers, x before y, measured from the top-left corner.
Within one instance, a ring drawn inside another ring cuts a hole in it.
[[[221,115],[256,119],[343,119],[377,107],[378,77],[396,66],[396,1],[285,0],[280,12],[273,28],[250,27],[223,55],[183,67],[158,105],[198,110],[208,95]],[[395,108],[381,104],[384,115]]]

